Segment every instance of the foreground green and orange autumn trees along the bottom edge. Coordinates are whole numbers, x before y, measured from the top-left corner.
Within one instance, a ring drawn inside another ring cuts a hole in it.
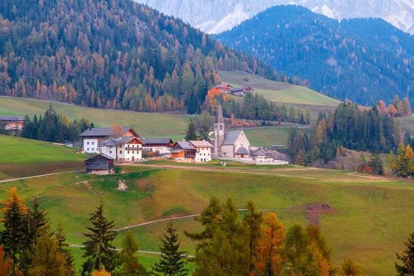
[[[0,232],[0,275],[76,275],[75,260],[68,250],[60,224],[52,231],[48,213],[39,199],[30,206],[19,197],[17,188],[8,191],[3,202],[3,230]],[[223,204],[216,198],[199,217],[204,230],[184,231],[197,242],[193,275],[317,275],[358,276],[362,268],[351,259],[342,266],[332,264],[332,250],[318,226],[295,224],[286,231],[275,213],[264,214],[248,201],[242,218],[233,200]],[[120,252],[112,242],[118,232],[115,221],[106,217],[100,204],[90,214],[83,233],[81,275],[177,275],[190,273],[186,252],[180,249],[177,227],[170,221],[161,237],[159,261],[146,270],[137,257],[139,244],[128,230]],[[414,233],[408,237],[404,255],[397,254],[397,275],[412,275]]]

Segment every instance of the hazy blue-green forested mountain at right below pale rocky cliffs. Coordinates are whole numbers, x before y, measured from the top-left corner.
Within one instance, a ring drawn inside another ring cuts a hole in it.
[[[339,23],[306,8],[276,6],[217,38],[326,95],[369,105],[391,103],[395,94],[414,101],[414,37],[382,19]]]

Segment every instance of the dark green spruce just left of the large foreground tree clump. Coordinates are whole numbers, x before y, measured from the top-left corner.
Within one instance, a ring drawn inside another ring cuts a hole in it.
[[[161,239],[162,246],[160,247],[161,257],[159,262],[152,266],[154,274],[159,276],[188,275],[188,269],[184,268],[186,252],[179,251],[177,228],[172,221],[166,226],[166,233],[163,235],[164,239]]]

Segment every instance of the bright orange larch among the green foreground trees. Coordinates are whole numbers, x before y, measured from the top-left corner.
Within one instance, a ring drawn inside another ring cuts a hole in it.
[[[262,237],[259,241],[256,268],[264,275],[280,275],[285,257],[283,253],[285,228],[277,221],[275,213],[268,213],[264,219]]]

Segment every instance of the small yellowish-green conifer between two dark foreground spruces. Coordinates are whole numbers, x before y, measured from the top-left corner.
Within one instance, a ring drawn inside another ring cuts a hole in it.
[[[128,230],[122,239],[122,250],[119,253],[120,268],[117,271],[119,275],[135,276],[146,273],[144,266],[139,264],[137,251],[138,242],[134,239],[132,232]]]

